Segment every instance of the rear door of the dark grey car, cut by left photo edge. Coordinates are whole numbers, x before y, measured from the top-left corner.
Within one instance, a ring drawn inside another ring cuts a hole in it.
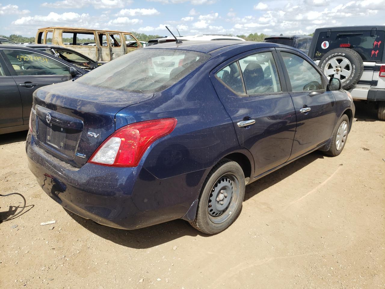
[[[0,55],[0,128],[23,124],[22,99],[17,84]]]

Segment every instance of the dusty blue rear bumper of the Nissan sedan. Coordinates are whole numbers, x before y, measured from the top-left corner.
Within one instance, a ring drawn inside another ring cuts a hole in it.
[[[199,193],[183,189],[186,175],[159,180],[141,166],[86,163],[75,168],[39,148],[31,133],[26,150],[28,167],[47,195],[67,210],[109,227],[137,229],[181,218]]]

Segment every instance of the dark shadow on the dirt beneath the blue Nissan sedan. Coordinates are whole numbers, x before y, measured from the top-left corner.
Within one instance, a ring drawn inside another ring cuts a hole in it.
[[[249,198],[253,197],[259,192],[287,178],[301,168],[309,165],[313,161],[323,157],[324,155],[321,152],[316,151],[246,186],[246,195],[244,201],[247,202]],[[151,248],[170,242],[172,240],[176,240],[186,235],[192,237],[197,235],[202,237],[209,237],[209,235],[198,232],[191,225],[189,225],[188,222],[181,219],[136,230],[122,230],[99,225],[92,220],[79,217],[78,215],[68,210],[65,210],[65,212],[67,212],[77,223],[82,225],[90,232],[106,240],[110,240],[115,244],[135,249]]]

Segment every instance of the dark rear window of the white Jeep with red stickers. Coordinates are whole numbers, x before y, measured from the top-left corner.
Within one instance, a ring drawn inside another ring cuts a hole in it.
[[[313,59],[321,59],[326,52],[340,47],[348,47],[357,51],[364,61],[381,60],[384,32],[376,31],[374,36],[370,36],[370,30],[331,32],[330,37],[326,37],[326,32],[321,32],[315,46]]]

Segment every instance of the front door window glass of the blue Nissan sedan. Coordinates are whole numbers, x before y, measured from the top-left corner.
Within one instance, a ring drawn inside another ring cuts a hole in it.
[[[324,89],[321,75],[307,60],[288,52],[281,52],[281,55],[289,74],[292,91]]]

